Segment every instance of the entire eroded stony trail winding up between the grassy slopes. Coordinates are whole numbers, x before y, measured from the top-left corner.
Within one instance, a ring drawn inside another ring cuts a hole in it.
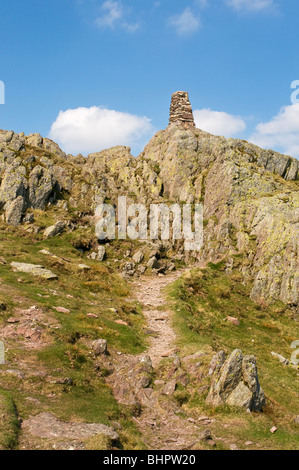
[[[200,435],[208,424],[198,424],[183,416],[181,407],[173,399],[176,386],[186,385],[188,378],[185,358],[181,361],[176,354],[172,312],[167,307],[164,290],[182,274],[175,272],[161,277],[144,277],[134,283],[133,293],[143,306],[150,345],[142,356],[121,356],[109,378],[120,403],[141,406],[141,413],[133,419],[150,450],[190,449],[200,441]],[[166,357],[168,363],[163,368],[159,364]]]

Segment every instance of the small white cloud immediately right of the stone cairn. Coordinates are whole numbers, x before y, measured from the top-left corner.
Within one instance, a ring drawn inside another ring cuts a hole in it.
[[[194,120],[199,129],[225,137],[233,137],[246,129],[246,123],[242,118],[223,111],[195,110]]]

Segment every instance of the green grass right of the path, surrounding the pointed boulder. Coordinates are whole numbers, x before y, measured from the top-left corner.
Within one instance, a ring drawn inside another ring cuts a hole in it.
[[[271,352],[290,359],[290,345],[299,338],[299,325],[293,320],[291,310],[281,302],[270,306],[252,302],[250,286],[242,281],[238,272],[227,275],[224,263],[191,271],[169,290],[175,312],[174,328],[183,354],[199,350],[207,353],[203,359],[206,368],[212,355],[221,349],[227,354],[236,348],[242,349],[243,354],[254,354],[267,408],[263,414],[252,416],[227,407],[214,411],[205,405],[207,393],[198,395],[196,391],[188,406],[216,413],[220,435],[228,432],[221,426],[229,422],[229,433],[237,441],[260,442],[262,448],[298,449],[298,425],[293,421],[299,414],[298,370],[283,366]],[[227,316],[237,317],[240,326],[227,322]],[[206,380],[202,385],[208,384]],[[235,420],[239,423],[236,426]],[[273,425],[278,427],[275,435],[269,432]]]

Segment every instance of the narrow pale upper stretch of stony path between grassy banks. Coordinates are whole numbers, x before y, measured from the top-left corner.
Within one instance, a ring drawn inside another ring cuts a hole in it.
[[[159,364],[162,355],[175,346],[175,333],[171,325],[172,312],[166,307],[163,290],[181,275],[181,272],[175,272],[163,277],[144,278],[134,284],[135,296],[144,306],[143,314],[149,329],[154,332],[147,351],[154,367]]]

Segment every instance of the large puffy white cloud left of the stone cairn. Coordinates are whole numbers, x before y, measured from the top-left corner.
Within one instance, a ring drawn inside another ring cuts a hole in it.
[[[49,137],[67,153],[87,155],[115,145],[139,149],[152,133],[147,117],[93,106],[60,111]]]

